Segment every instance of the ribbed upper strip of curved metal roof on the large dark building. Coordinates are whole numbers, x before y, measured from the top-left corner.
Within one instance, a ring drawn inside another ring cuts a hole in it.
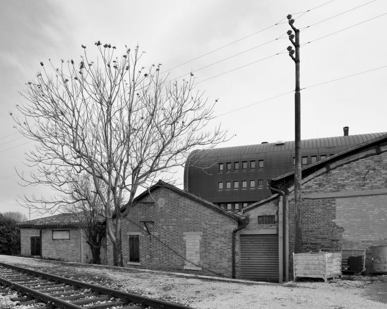
[[[386,134],[385,132],[380,133],[368,133],[348,136],[335,136],[335,137],[324,137],[324,138],[312,138],[301,140],[301,149],[307,148],[327,148],[335,146],[353,146],[373,138],[379,137]],[[253,153],[265,153],[274,151],[293,150],[294,141],[285,141],[284,144],[277,145],[276,143],[264,143],[256,145],[245,145],[235,147],[224,147],[204,150],[206,158],[211,157],[227,157],[227,156],[239,156],[249,155]],[[191,152],[193,155],[194,150]]]

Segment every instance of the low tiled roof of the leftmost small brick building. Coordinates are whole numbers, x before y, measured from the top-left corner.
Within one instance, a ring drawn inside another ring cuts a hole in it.
[[[78,227],[79,220],[74,213],[60,213],[49,217],[18,223],[19,227]]]

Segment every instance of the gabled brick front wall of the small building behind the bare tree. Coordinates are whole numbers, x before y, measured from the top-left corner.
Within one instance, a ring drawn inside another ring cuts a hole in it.
[[[163,187],[152,191],[141,202],[122,220],[124,266],[206,275],[219,273],[231,277],[232,230],[238,226],[236,220]],[[147,223],[150,233],[155,237],[147,233],[144,223],[140,222],[144,220],[155,221]],[[128,236],[131,234],[140,235],[140,265],[129,262]],[[198,264],[201,270],[184,269],[186,237],[189,235],[196,235],[199,240]],[[107,259],[111,265],[113,256],[110,240]]]

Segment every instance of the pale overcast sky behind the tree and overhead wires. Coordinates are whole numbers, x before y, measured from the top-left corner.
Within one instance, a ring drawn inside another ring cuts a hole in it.
[[[18,196],[50,194],[18,184],[15,169],[31,171],[23,161],[33,144],[16,133],[9,113],[23,104],[18,92],[40,70],[40,61],[80,59],[81,44],[93,48],[100,40],[123,51],[125,44],[139,43],[146,51],[145,66],[163,63],[166,71],[179,65],[168,72],[171,79],[193,71],[209,103],[219,98],[215,114],[220,116],[213,124],[235,135],[223,146],[293,140],[294,93],[279,96],[294,90],[295,83],[294,62],[280,53],[290,43],[289,13],[302,30],[301,138],[339,136],[344,126],[350,134],[387,131],[385,0],[3,0],[0,212],[28,215]],[[361,74],[307,88],[356,73]],[[182,178],[182,170],[176,178]]]

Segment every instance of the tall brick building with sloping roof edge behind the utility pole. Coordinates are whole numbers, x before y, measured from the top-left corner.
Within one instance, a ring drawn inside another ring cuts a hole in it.
[[[272,180],[286,193],[284,258],[292,273],[294,174]],[[278,197],[279,205],[283,201]],[[281,208],[281,207],[280,207]],[[365,249],[372,270],[372,246],[387,246],[387,134],[302,169],[302,251]],[[282,228],[281,228],[282,229]],[[287,241],[289,239],[289,241]]]

